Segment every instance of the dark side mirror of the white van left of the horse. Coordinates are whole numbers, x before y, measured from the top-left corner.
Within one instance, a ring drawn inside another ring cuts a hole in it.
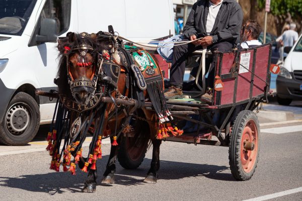
[[[36,42],[56,42],[57,38],[57,22],[55,19],[44,18],[41,22],[39,34],[36,35]]]

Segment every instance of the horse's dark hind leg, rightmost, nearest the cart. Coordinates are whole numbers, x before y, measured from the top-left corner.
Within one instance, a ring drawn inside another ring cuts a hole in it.
[[[146,183],[156,183],[158,174],[157,171],[160,169],[160,146],[162,144],[162,140],[153,139],[153,153],[152,153],[152,161],[151,167],[147,173],[147,177],[143,180]]]

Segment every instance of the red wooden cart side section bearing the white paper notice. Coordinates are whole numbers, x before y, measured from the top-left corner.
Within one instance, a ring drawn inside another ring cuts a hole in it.
[[[244,65],[248,70],[252,71],[254,50],[244,51],[240,53],[240,64]],[[250,98],[250,86],[252,73],[239,66],[236,103]]]

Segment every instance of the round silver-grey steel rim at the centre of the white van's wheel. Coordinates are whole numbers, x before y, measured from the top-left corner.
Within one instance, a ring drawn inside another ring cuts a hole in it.
[[[16,105],[7,113],[6,126],[12,134],[22,134],[29,124],[29,113],[20,105]]]

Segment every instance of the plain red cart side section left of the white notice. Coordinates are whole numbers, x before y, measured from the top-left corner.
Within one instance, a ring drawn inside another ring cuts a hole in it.
[[[234,63],[234,53],[223,53],[219,55],[216,66],[216,75],[228,74],[231,71]],[[221,66],[221,68],[219,68]],[[214,105],[228,105],[233,104],[235,78],[223,79],[223,90],[215,91]]]

